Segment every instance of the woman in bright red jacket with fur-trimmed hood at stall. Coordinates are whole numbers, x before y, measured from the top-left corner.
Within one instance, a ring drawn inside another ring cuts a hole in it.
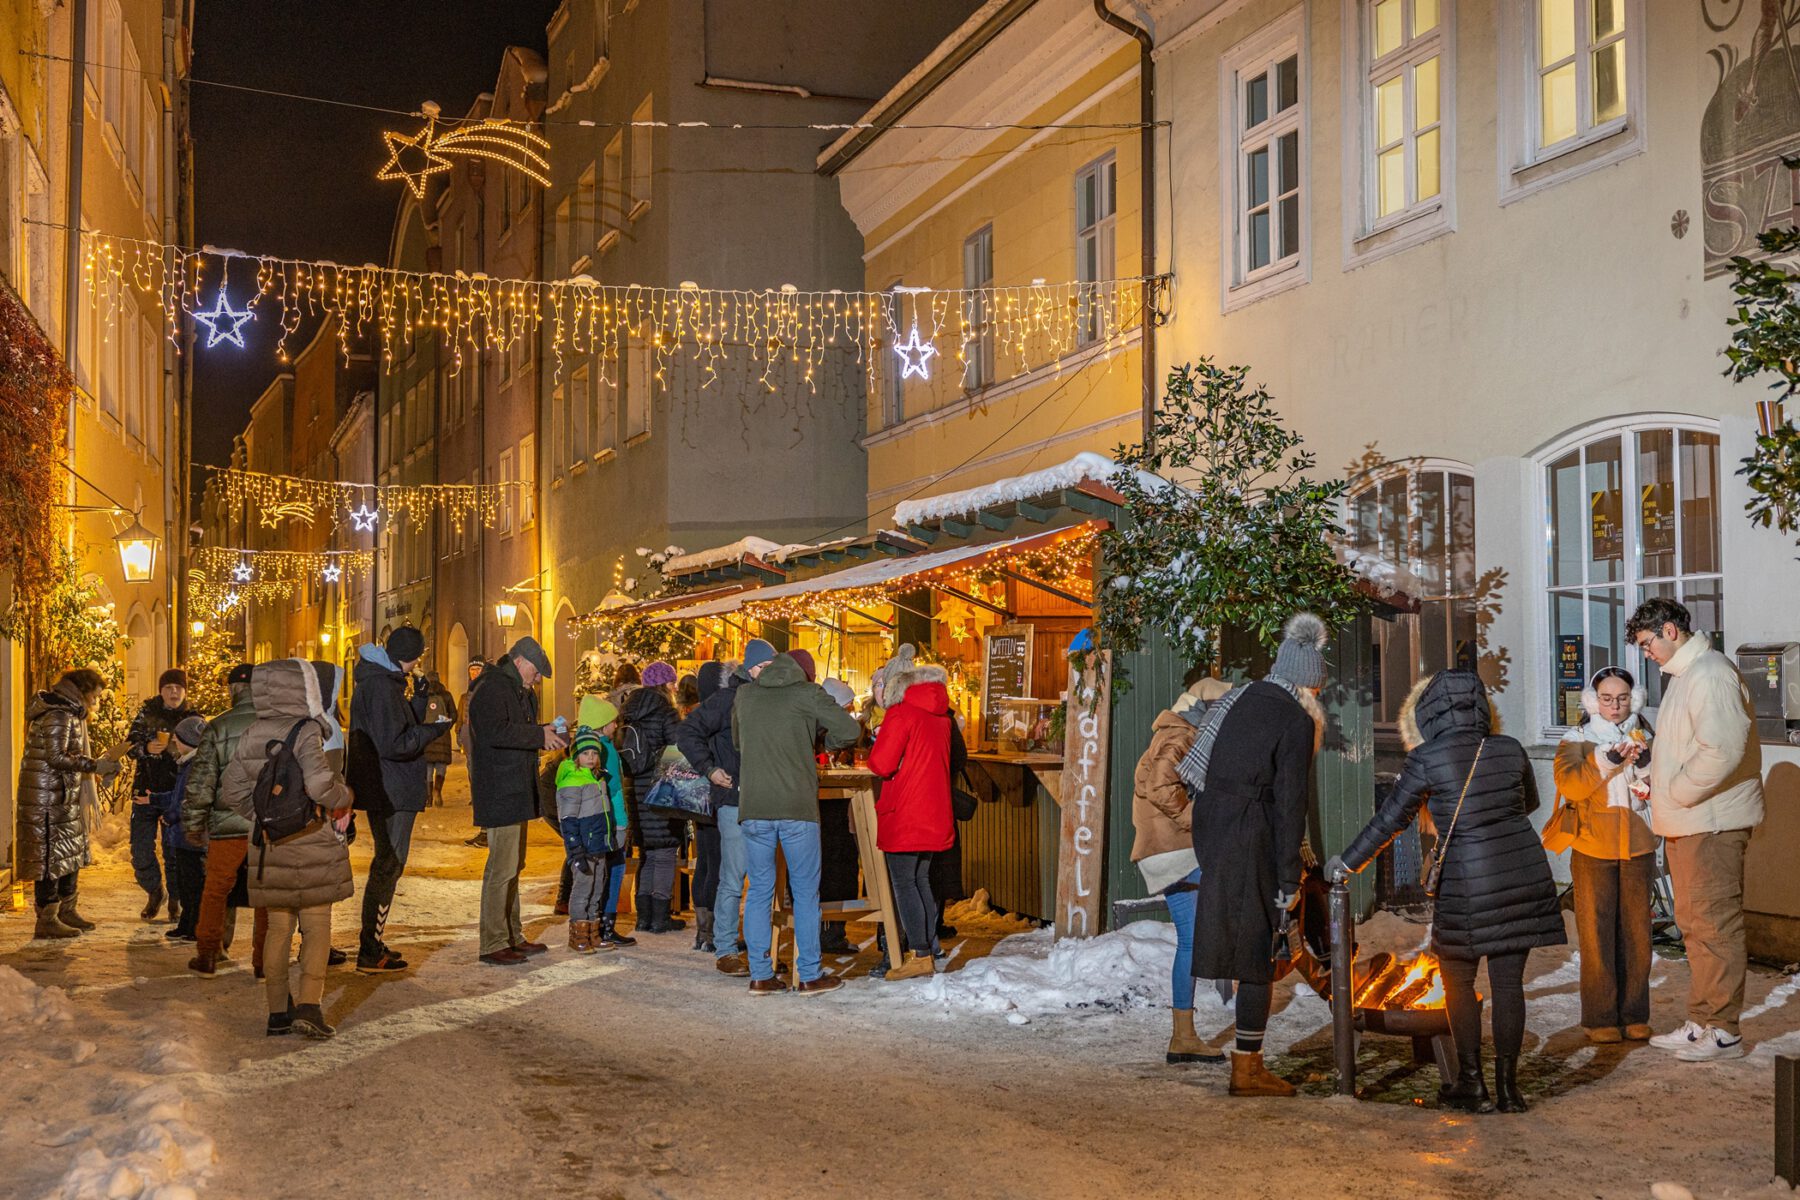
[[[869,770],[886,779],[875,801],[875,844],[887,856],[895,907],[905,928],[905,963],[887,979],[913,979],[936,970],[932,932],[938,903],[931,894],[931,860],[956,840],[950,779],[968,757],[963,732],[950,716],[949,676],[943,667],[920,666],[887,680],[889,698],[900,696],[882,718]]]

